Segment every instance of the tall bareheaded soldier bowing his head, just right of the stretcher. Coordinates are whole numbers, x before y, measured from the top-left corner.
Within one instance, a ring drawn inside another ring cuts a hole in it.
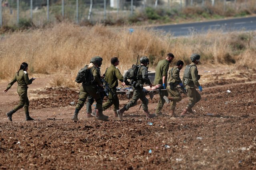
[[[173,59],[174,59],[174,55],[172,53],[168,53],[165,59],[157,63],[157,67],[155,69],[155,80],[154,80],[155,85],[157,84],[163,85],[163,89],[166,89],[169,64]],[[165,91],[163,90],[159,93],[159,95],[160,95],[160,99],[155,109],[155,114],[157,116],[163,115],[161,113],[161,110],[165,103],[165,99],[163,99],[163,96],[168,96],[168,92],[166,90]]]

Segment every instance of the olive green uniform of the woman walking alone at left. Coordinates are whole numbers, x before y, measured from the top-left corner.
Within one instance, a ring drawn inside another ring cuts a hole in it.
[[[17,81],[18,88],[17,93],[20,96],[20,102],[13,109],[14,113],[24,107],[25,113],[28,113],[28,85],[32,83],[32,80],[28,78],[28,73],[26,71],[20,70],[18,71],[12,81],[7,85],[6,89],[10,89],[12,85]]]

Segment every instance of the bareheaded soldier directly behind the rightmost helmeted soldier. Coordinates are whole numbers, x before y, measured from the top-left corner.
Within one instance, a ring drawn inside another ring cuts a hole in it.
[[[181,101],[181,95],[176,86],[183,86],[182,81],[179,77],[179,71],[183,68],[183,65],[183,61],[179,60],[177,61],[176,66],[171,68],[169,71],[169,76],[167,79],[167,90],[169,97],[164,96],[163,98],[165,99],[166,103],[171,102],[171,112],[169,113],[170,116],[175,116],[176,103]]]

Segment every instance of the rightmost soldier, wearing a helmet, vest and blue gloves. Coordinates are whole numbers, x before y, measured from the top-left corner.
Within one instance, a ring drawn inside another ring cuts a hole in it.
[[[198,82],[200,75],[198,75],[198,69],[196,66],[199,63],[200,55],[192,54],[190,59],[192,63],[186,66],[182,79],[182,82],[185,85],[185,88],[187,89],[189,103],[180,114],[181,117],[190,116],[187,112],[194,114],[192,107],[201,99],[201,95],[198,93],[195,86],[199,88],[200,92],[203,91],[202,86]]]

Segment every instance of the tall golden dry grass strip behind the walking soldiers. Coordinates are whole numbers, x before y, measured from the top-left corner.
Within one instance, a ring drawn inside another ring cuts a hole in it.
[[[256,49],[254,36],[255,32],[223,34],[211,31],[204,35],[192,34],[189,38],[173,38],[143,28],[136,28],[130,34],[127,28],[61,23],[2,38],[0,62],[4,67],[0,67],[0,79],[12,78],[20,63],[25,61],[30,74],[58,75],[51,85],[75,87],[77,71],[96,55],[103,57],[102,73],[113,56],[119,57],[118,67],[123,73],[136,63],[137,54],[150,56],[149,70],[153,70],[168,52],[175,55],[175,61],[182,59],[185,63],[189,63],[191,53],[199,53],[202,63],[231,64],[236,61],[236,65],[252,68],[256,65],[252,59]]]

